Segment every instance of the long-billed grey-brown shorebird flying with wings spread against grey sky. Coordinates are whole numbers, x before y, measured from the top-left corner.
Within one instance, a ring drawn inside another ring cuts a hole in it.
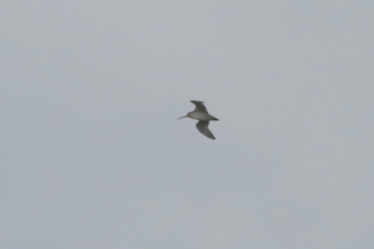
[[[218,118],[209,115],[208,111],[206,111],[206,108],[203,105],[203,101],[191,100],[191,102],[196,106],[196,108],[192,112],[188,112],[186,116],[180,118],[188,117],[199,120],[199,122],[196,124],[197,130],[199,130],[205,136],[215,139],[211,131],[209,131],[208,125],[209,120],[218,120]]]

